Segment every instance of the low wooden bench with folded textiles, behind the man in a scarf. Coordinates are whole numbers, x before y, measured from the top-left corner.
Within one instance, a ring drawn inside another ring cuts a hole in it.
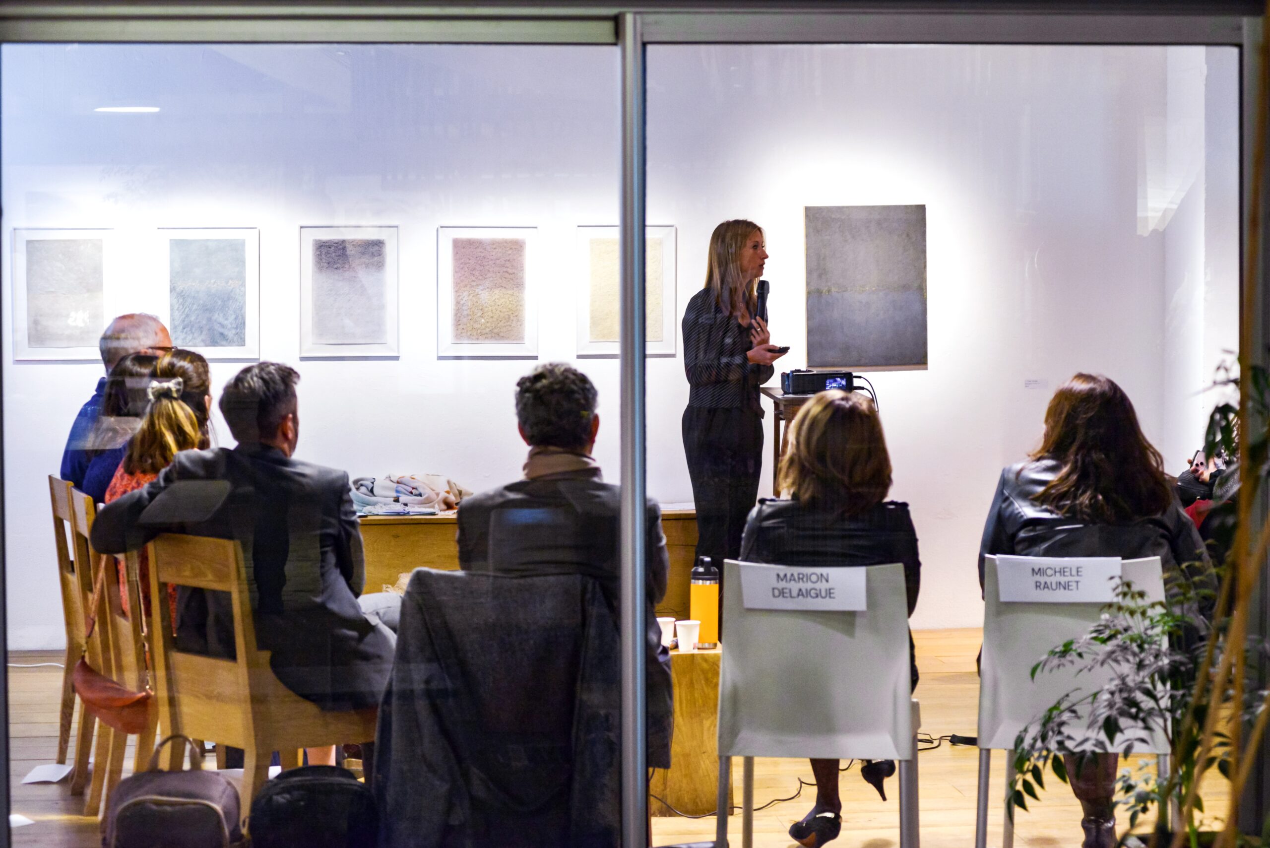
[[[415,569],[458,569],[458,519],[455,513],[439,515],[364,515],[362,543],[366,547],[366,592],[382,592],[396,585],[398,578]],[[697,546],[697,513],[668,509],[662,513],[662,529],[671,555],[671,576],[658,616],[688,618],[688,584]]]

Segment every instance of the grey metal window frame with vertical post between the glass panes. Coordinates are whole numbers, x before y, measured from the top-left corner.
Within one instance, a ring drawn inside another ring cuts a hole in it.
[[[645,211],[645,47],[706,43],[919,43],[919,44],[1203,44],[1242,52],[1241,232],[1247,244],[1253,209],[1251,157],[1260,90],[1257,61],[1264,19],[1252,4],[1050,4],[982,1],[939,9],[931,3],[865,4],[734,0],[707,4],[649,0],[626,5],[535,6],[516,0],[466,5],[375,4],[160,4],[160,3],[10,3],[0,6],[0,42],[349,42],[616,44],[621,57],[621,540],[622,540],[622,831],[624,844],[646,838],[646,739],[643,722],[645,523],[645,372],[644,372],[644,211]],[[1154,8],[1152,8],[1154,5]],[[1256,307],[1241,315],[1245,338],[1270,364],[1270,173],[1264,175],[1257,237],[1260,262],[1243,286],[1256,289]],[[1241,264],[1242,269],[1242,264]],[[8,328],[0,322],[0,334]],[[0,383],[3,388],[3,383]],[[3,395],[0,395],[3,397]],[[0,400],[3,414],[3,400]],[[3,418],[0,418],[3,437]],[[4,538],[4,456],[0,451],[0,540]],[[5,573],[0,547],[0,575]],[[6,655],[5,580],[0,579],[0,651]],[[1262,598],[1260,632],[1270,632],[1270,602]],[[0,678],[0,760],[9,762],[8,680]],[[1245,818],[1260,826],[1270,810],[1270,749],[1264,748]],[[0,806],[10,806],[8,769],[0,781]],[[10,844],[0,829],[0,847]]]

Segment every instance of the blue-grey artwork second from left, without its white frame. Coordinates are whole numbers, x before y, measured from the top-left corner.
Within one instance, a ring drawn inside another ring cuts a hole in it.
[[[246,344],[246,240],[168,242],[171,340],[182,348]]]

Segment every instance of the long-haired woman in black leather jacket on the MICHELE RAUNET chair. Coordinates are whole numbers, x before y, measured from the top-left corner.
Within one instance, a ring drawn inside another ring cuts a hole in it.
[[[1045,410],[1045,435],[1027,462],[1001,472],[983,528],[983,559],[1020,556],[1158,556],[1166,588],[1186,576],[1215,588],[1208,552],[1138,427],[1133,404],[1106,377],[1078,373]],[[1085,818],[1082,848],[1113,848],[1116,754],[1077,769],[1064,757]]]

